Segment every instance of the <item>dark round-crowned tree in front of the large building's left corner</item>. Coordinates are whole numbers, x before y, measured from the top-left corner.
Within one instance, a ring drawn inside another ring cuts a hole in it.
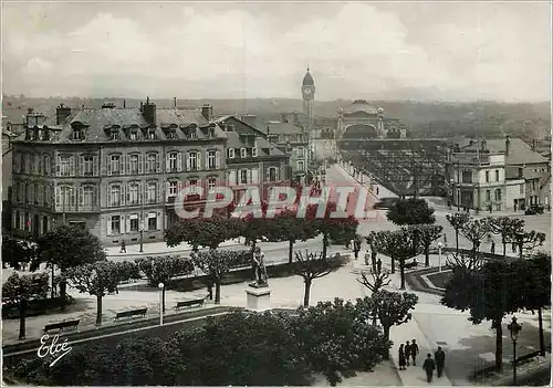
[[[40,263],[48,263],[52,270],[53,284],[55,266],[63,275],[70,268],[103,260],[106,260],[106,254],[96,235],[76,226],[59,226],[40,237],[36,260],[31,264],[31,271],[35,271]],[[64,276],[60,279],[63,311],[65,310],[66,284]]]

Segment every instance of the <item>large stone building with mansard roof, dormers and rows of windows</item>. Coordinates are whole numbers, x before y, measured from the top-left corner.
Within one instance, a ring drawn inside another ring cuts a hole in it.
[[[106,103],[76,112],[61,105],[55,120],[29,113],[12,143],[12,228],[29,237],[79,224],[106,245],[138,241],[140,230],[145,242],[161,240],[177,221],[174,201],[184,186],[205,188],[206,196],[186,199],[201,207],[210,188],[228,185],[232,154],[254,161],[271,148],[258,139],[257,154],[255,143],[247,147],[234,137],[212,120],[209,105],[157,108],[148,99],[139,108]],[[247,176],[253,181],[252,171]]]

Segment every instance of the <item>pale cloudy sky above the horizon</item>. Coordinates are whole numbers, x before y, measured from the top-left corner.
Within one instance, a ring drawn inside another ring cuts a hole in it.
[[[3,2],[4,94],[551,99],[549,2]]]

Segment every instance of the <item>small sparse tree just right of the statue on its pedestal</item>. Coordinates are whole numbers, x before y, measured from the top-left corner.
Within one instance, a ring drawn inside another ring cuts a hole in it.
[[[331,272],[336,271],[344,264],[342,256],[340,259],[326,258],[323,253],[315,253],[305,250],[305,255],[302,252],[295,252],[296,265],[294,272],[303,277],[305,284],[305,293],[303,295],[303,306],[310,305],[311,285],[315,279],[324,277]]]

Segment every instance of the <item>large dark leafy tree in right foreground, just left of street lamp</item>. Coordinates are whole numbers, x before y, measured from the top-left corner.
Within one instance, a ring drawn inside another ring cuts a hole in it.
[[[517,296],[512,285],[517,283],[517,273],[507,261],[489,261],[480,269],[468,270],[453,268],[451,277],[446,284],[441,304],[470,311],[469,321],[474,325],[482,321],[491,321],[495,331],[495,368],[502,368],[503,329],[505,314],[518,311]]]

